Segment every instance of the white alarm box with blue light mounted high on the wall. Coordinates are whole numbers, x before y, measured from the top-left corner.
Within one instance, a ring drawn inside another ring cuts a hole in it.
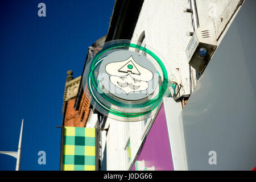
[[[213,23],[199,27],[193,33],[186,49],[188,64],[202,73],[217,47]]]

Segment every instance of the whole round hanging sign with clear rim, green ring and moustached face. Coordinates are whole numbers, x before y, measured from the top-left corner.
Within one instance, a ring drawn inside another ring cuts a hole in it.
[[[86,61],[82,77],[85,96],[96,110],[118,121],[150,118],[166,94],[167,65],[141,43],[107,42]]]

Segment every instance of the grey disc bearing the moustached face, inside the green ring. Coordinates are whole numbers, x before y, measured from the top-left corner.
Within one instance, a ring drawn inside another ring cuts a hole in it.
[[[123,100],[141,100],[156,90],[159,82],[155,66],[146,56],[129,50],[115,51],[100,65],[98,81],[102,90]]]

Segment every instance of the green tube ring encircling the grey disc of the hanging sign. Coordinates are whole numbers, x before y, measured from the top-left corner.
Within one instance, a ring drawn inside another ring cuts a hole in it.
[[[94,77],[93,73],[94,73],[94,69],[96,69],[95,67],[95,63],[96,61],[98,60],[98,58],[106,51],[109,51],[110,49],[113,49],[113,48],[119,48],[119,47],[133,47],[133,48],[137,48],[137,49],[140,49],[141,51],[144,51],[146,53],[148,53],[149,55],[151,55],[156,61],[157,63],[160,65],[160,68],[162,69],[162,72],[163,72],[163,89],[160,89],[160,94],[158,94],[158,100],[155,102],[154,100],[150,100],[146,103],[142,103],[142,104],[134,104],[133,107],[141,107],[141,106],[148,106],[152,103],[154,103],[154,105],[152,106],[152,110],[155,109],[155,107],[157,107],[159,105],[159,102],[162,100],[162,97],[164,95],[164,93],[166,92],[166,89],[167,89],[167,85],[168,85],[168,76],[167,76],[167,71],[166,71],[166,68],[164,67],[164,64],[162,63],[162,61],[159,59],[158,56],[156,56],[153,52],[151,52],[150,50],[148,50],[147,48],[144,48],[142,46],[139,46],[137,44],[130,44],[130,43],[117,43],[117,44],[113,44],[111,46],[106,46],[104,48],[102,48],[97,54],[96,56],[94,56],[93,60],[92,60],[92,64],[90,64],[90,73],[89,73],[89,77],[88,77],[88,85],[90,85],[90,82],[89,82],[89,78],[92,78],[92,82],[93,82],[93,86],[94,88],[98,88],[98,84],[97,84],[97,81],[96,81],[96,78]],[[90,89],[89,89],[89,92],[90,94],[92,95]],[[122,102],[118,102],[118,101],[115,101],[113,100],[112,98],[108,97],[105,93],[102,93],[102,97],[104,97],[106,100],[108,100],[110,103],[113,103],[117,106],[129,106],[128,104],[124,104]],[[160,100],[161,98],[161,100]],[[104,105],[101,103],[101,105]],[[106,106],[108,108],[108,106]],[[104,108],[105,109],[105,108]],[[120,112],[120,111],[116,111],[116,110],[113,110],[113,109],[105,109],[106,111],[114,114],[114,115],[119,115],[119,116],[122,116],[122,117],[138,117],[140,115],[145,115],[147,113],[149,113],[150,111],[152,110],[148,110],[148,111],[145,111],[143,113],[123,113],[123,112]]]

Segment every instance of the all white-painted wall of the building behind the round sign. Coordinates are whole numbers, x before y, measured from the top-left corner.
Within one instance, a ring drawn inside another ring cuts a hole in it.
[[[239,2],[240,0],[197,0],[200,26],[213,20],[216,35],[220,36]],[[190,93],[185,48],[191,39],[186,32],[193,32],[191,14],[184,13],[185,8],[190,8],[188,0],[144,0],[132,38],[138,41],[142,32],[145,32],[146,46],[154,48],[164,57],[171,67],[172,73],[169,76],[173,74],[179,84],[182,81],[184,89],[181,94]],[[180,69],[181,80],[176,68]],[[110,118],[106,122],[105,128],[109,127],[106,137],[108,170],[127,170],[123,125],[123,122]],[[129,123],[131,161],[141,145],[142,134],[141,122]]]

